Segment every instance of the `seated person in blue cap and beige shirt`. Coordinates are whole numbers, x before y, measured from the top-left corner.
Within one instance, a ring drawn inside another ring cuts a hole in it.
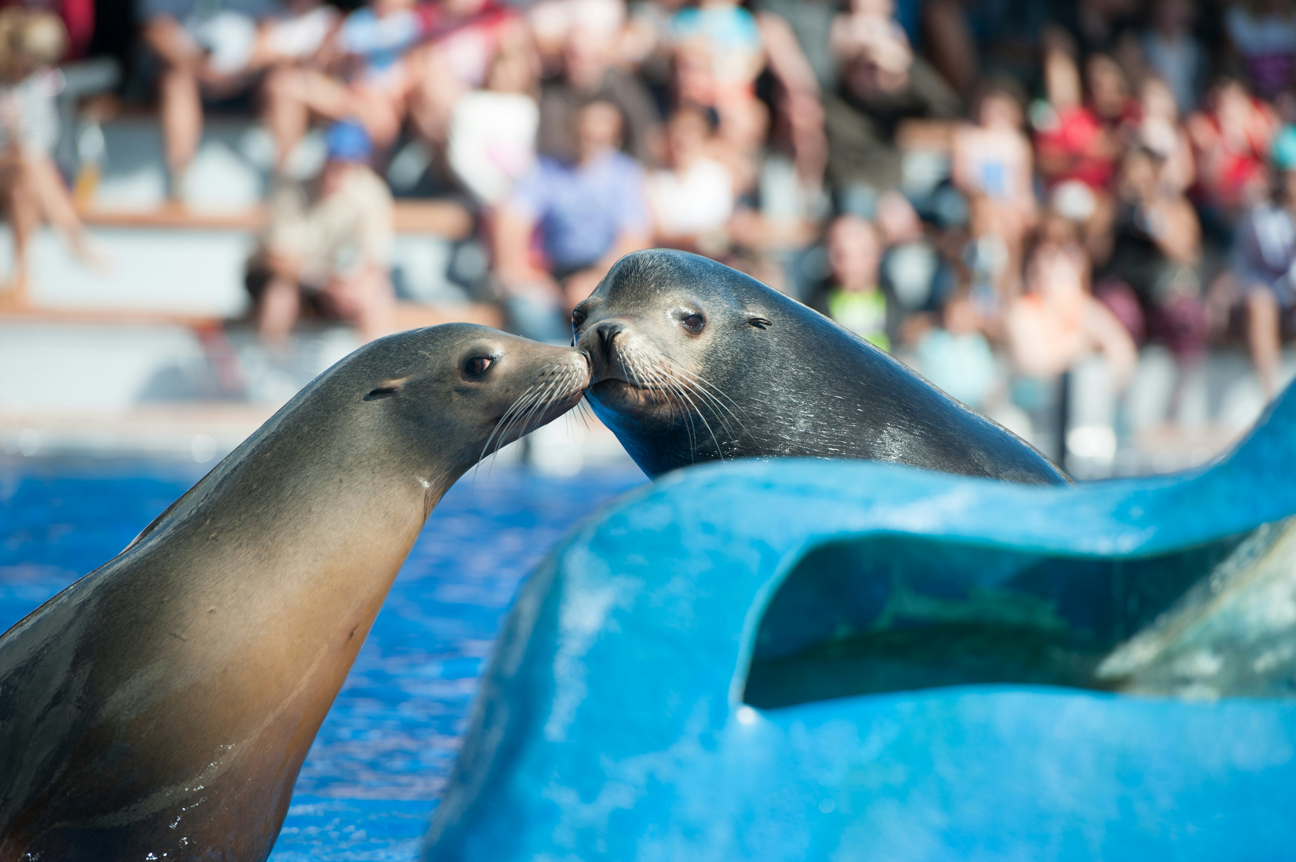
[[[334,123],[325,144],[319,176],[271,192],[248,262],[257,328],[271,346],[286,345],[303,310],[345,320],[365,341],[394,331],[391,192],[368,165],[373,145],[363,126]]]

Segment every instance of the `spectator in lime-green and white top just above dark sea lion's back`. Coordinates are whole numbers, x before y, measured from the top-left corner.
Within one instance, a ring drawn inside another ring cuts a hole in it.
[[[894,315],[879,281],[881,239],[871,222],[841,215],[828,228],[828,279],[807,305],[883,350],[892,349]]]

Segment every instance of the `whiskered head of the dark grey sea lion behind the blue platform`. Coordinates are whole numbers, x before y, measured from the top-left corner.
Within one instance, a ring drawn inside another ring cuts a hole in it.
[[[575,307],[590,403],[645,472],[743,454],[752,393],[737,390],[769,362],[784,302],[714,261],[654,249],[621,258]]]

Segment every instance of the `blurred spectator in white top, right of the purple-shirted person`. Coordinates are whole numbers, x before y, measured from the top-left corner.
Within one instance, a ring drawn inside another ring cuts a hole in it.
[[[701,254],[723,250],[734,213],[734,178],[709,154],[710,124],[696,109],[680,109],[666,130],[669,169],[648,178],[648,205],[658,245]]]

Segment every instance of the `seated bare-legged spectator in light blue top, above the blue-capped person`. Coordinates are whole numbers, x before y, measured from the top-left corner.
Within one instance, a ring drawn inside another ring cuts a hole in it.
[[[280,167],[312,117],[354,118],[377,146],[390,146],[400,134],[413,87],[407,54],[424,32],[413,0],[372,0],[342,22],[332,45],[338,54],[332,70],[276,69],[266,82],[266,124],[275,136]]]

